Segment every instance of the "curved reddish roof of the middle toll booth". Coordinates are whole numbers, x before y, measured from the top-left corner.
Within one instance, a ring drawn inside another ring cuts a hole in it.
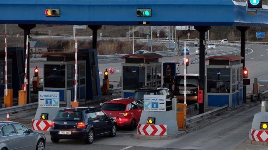
[[[146,54],[130,54],[122,56],[121,59],[125,59],[126,63],[152,63],[158,62],[159,58],[162,58],[162,55],[155,53],[146,53]]]

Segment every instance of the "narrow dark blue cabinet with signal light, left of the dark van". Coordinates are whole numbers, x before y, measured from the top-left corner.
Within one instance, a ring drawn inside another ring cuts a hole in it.
[[[172,91],[172,83],[175,75],[180,73],[180,64],[178,62],[163,63],[163,86]]]

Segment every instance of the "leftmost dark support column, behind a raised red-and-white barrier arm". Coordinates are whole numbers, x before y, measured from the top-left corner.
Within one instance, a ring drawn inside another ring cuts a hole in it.
[[[26,49],[26,38],[27,35],[29,35],[30,38],[30,30],[33,29],[36,25],[34,24],[19,24],[19,28],[22,28],[24,30],[24,49]],[[28,43],[28,55],[30,56],[30,43]],[[30,57],[27,59],[27,77],[28,79],[28,85],[27,85],[27,103],[30,103]]]

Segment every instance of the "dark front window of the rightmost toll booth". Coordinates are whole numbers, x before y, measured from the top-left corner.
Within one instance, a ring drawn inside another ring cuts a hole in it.
[[[230,69],[207,69],[207,92],[230,93]]]

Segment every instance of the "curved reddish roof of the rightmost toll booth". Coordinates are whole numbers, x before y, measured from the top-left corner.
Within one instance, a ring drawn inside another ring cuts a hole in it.
[[[223,55],[223,56],[212,56],[206,58],[206,61],[209,61],[209,65],[235,65],[240,64],[240,60],[244,57],[240,55]]]

